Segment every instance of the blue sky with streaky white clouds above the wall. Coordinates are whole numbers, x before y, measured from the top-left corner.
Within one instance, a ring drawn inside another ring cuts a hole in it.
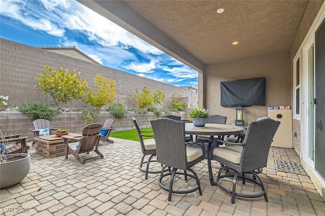
[[[0,36],[30,46],[76,46],[105,66],[176,86],[198,72],[74,0],[0,0]]]

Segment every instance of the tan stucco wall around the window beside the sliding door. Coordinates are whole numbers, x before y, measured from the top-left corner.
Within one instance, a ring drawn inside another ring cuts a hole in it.
[[[317,13],[322,6],[324,1],[310,1],[307,7],[305,16],[301,21],[299,30],[296,35],[295,42],[290,50],[290,73],[291,77],[293,77],[293,59],[296,56],[302,42],[304,41],[308,30],[310,29]],[[303,87],[301,88],[301,95],[303,91]],[[293,94],[293,82],[291,82],[291,106],[294,101],[294,94]],[[302,100],[301,100],[302,101]],[[293,138],[293,146],[296,150],[297,154],[301,156],[301,121],[293,119],[293,131],[297,132],[297,137]]]

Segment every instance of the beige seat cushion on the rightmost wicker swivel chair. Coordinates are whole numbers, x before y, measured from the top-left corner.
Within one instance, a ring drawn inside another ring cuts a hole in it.
[[[242,146],[226,146],[215,148],[213,154],[230,162],[239,164],[242,151]]]

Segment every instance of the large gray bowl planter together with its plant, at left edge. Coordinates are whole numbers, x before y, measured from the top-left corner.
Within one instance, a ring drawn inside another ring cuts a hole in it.
[[[0,188],[18,184],[30,169],[30,156],[25,153],[8,154],[7,148],[15,135],[0,131]],[[15,140],[15,139],[14,139]]]

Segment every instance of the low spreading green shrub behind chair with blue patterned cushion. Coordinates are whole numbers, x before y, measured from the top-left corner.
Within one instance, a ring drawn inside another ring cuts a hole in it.
[[[35,103],[27,102],[27,104],[23,103],[18,107],[18,111],[27,114],[33,120],[36,119],[49,120],[51,117],[56,116],[60,112],[59,110],[51,109],[43,101],[35,102]]]

